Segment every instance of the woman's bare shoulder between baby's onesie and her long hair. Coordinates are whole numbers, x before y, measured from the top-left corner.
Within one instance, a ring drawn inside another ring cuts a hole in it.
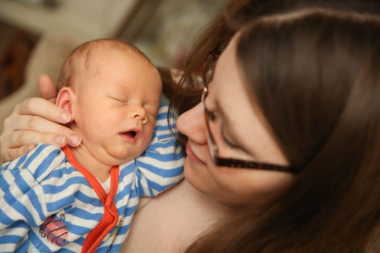
[[[120,252],[181,252],[222,217],[206,196],[182,180],[136,212]]]

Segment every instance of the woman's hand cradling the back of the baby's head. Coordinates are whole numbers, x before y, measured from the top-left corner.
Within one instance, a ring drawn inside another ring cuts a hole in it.
[[[81,138],[65,123],[73,121],[70,114],[56,106],[57,89],[47,75],[38,80],[41,98],[32,97],[16,105],[12,114],[4,120],[0,136],[0,156],[11,161],[28,153],[37,142],[78,146]]]

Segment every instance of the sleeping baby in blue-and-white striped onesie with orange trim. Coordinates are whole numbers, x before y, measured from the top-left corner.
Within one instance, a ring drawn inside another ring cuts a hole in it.
[[[39,143],[0,168],[0,248],[117,252],[138,197],[182,179],[160,75],[136,47],[100,39],[68,56],[58,87],[56,104],[72,114],[69,128],[82,142]]]

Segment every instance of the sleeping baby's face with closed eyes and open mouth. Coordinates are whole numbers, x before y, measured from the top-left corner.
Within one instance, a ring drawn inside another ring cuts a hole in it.
[[[95,158],[121,164],[143,153],[152,139],[161,79],[141,57],[118,49],[95,51],[89,73],[76,85],[75,131]]]

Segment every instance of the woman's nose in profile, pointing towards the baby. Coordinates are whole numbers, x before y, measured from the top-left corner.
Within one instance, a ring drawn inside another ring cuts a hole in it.
[[[202,103],[182,113],[176,121],[177,129],[188,139],[199,143],[207,143],[207,128]]]

